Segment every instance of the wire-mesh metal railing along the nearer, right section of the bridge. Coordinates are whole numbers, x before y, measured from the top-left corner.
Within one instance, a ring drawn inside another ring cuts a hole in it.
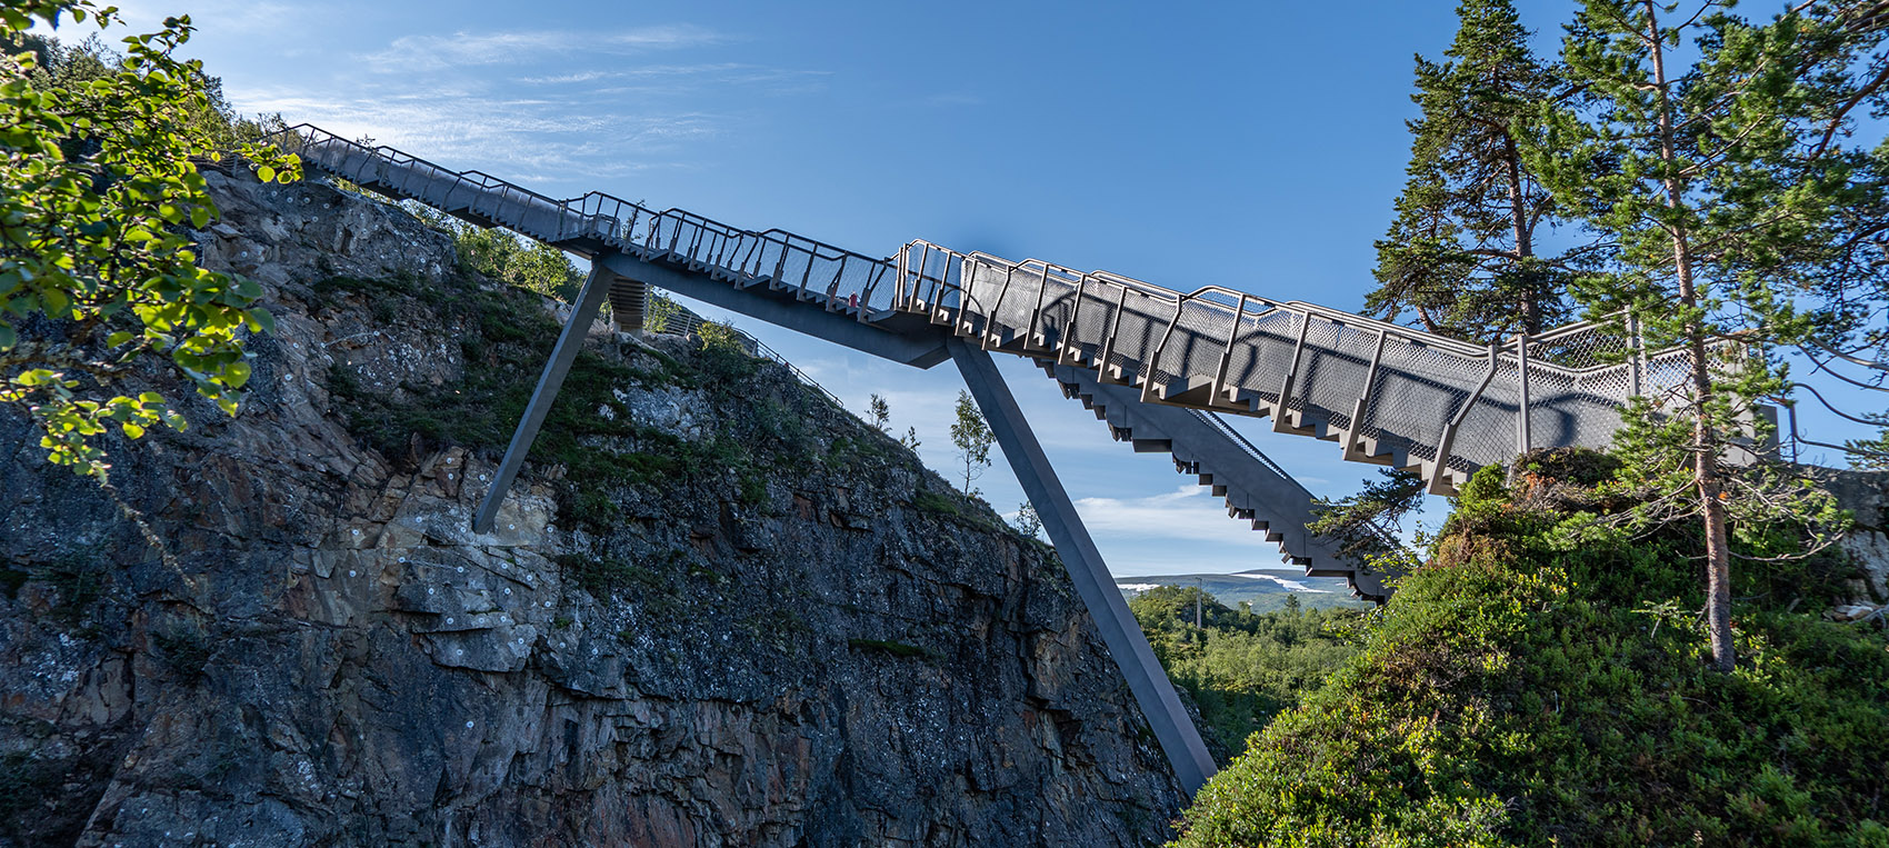
[[[901,310],[986,348],[1096,368],[1145,400],[1364,438],[1432,476],[1532,448],[1604,448],[1628,397],[1679,389],[1691,363],[1679,348],[1645,351],[1625,315],[1475,346],[1300,300],[1217,285],[1179,293],[929,242],[909,244],[897,264]],[[1713,353],[1732,359],[1730,348]]]

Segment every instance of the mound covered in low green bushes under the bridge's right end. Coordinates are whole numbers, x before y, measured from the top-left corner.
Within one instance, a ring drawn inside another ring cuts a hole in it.
[[[1628,506],[1604,474],[1591,453],[1538,453],[1515,491],[1477,474],[1362,655],[1201,789],[1175,844],[1889,846],[1889,638],[1793,612],[1844,567],[1742,568],[1717,674],[1696,527],[1568,544]]]

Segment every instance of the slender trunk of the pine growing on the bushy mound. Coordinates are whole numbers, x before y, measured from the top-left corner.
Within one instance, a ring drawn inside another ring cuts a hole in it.
[[[1683,189],[1674,176],[1677,172],[1677,151],[1674,144],[1672,98],[1666,85],[1666,62],[1659,17],[1653,0],[1642,0],[1647,15],[1647,43],[1653,51],[1653,81],[1659,89],[1659,130],[1660,161],[1666,164],[1666,206],[1677,210]],[[1672,225],[1672,268],[1679,283],[1679,302],[1691,314],[1698,308],[1698,281],[1693,278],[1693,251],[1687,242],[1683,217],[1674,215]],[[1711,365],[1706,359],[1706,331],[1698,319],[1689,319],[1683,329],[1685,346],[1691,353],[1693,378],[1693,480],[1698,489],[1700,517],[1706,521],[1706,629],[1711,633],[1711,669],[1730,672],[1738,665],[1738,648],[1732,644],[1732,557],[1727,548],[1725,502],[1719,468],[1719,438],[1711,421]]]

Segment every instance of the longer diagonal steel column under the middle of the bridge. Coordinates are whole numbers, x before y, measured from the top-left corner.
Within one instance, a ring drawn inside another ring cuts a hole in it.
[[[1167,672],[1154,659],[1154,650],[1141,635],[1135,614],[1128,612],[1128,601],[1122,601],[1122,589],[1115,587],[1115,580],[1101,561],[1101,551],[1088,538],[1088,529],[1082,527],[1075,504],[1069,502],[1069,493],[1056,478],[1056,468],[1050,468],[1043,446],[1030,432],[1030,421],[1024,419],[1024,412],[1011,397],[1011,387],[1003,383],[1003,374],[997,374],[997,363],[990,361],[990,353],[956,336],[944,342],[944,348],[958,363],[977,406],[984,410],[984,419],[990,421],[990,431],[997,436],[1003,457],[1016,472],[1016,482],[1024,485],[1024,495],[1030,495],[1030,502],[1037,508],[1043,529],[1050,533],[1056,555],[1069,570],[1069,580],[1075,584],[1077,595],[1082,597],[1082,604],[1088,606],[1090,618],[1096,619],[1096,629],[1101,631],[1101,640],[1109,646],[1115,665],[1128,678],[1128,689],[1141,704],[1141,714],[1154,729],[1154,738],[1160,740],[1167,761],[1173,763],[1175,778],[1192,795],[1217,771],[1213,757],[1207,755],[1207,744],[1201,742],[1194,720],[1181,706],[1181,697],[1175,695]]]

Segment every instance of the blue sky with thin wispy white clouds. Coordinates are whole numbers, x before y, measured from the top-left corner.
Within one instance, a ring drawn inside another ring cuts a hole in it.
[[[1451,2],[119,2],[189,11],[187,55],[280,111],[550,195],[606,191],[861,253],[912,238],[1354,310],[1404,183],[1411,57]],[[1549,53],[1572,4],[1521,4]],[[521,11],[523,9],[523,11]],[[703,310],[710,312],[712,310]],[[735,317],[952,466],[962,382]],[[1003,363],[1116,574],[1277,565],[1245,523]],[[1371,466],[1239,423],[1320,495]],[[1806,457],[1810,459],[1810,457]],[[997,461],[977,483],[1022,500]],[[1441,504],[1432,504],[1432,516]]]

